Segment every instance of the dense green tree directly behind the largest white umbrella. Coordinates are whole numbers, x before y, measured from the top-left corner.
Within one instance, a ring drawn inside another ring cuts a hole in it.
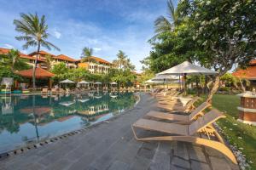
[[[195,56],[201,56],[204,53],[195,47],[192,35],[193,32],[187,20],[173,31],[158,34],[148,41],[152,45],[152,50],[142,63],[151,71],[160,72],[185,60],[194,61]]]

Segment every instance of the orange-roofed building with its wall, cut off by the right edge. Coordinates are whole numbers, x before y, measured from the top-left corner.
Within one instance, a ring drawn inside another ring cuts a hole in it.
[[[256,59],[253,59],[246,69],[233,72],[233,76],[249,80],[251,88],[256,88]]]

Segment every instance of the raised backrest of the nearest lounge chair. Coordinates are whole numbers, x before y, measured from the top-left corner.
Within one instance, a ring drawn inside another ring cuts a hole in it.
[[[207,127],[216,122],[219,118],[226,117],[220,111],[212,109],[204,116],[199,117],[195,122],[189,125],[189,135],[199,132],[202,128]]]

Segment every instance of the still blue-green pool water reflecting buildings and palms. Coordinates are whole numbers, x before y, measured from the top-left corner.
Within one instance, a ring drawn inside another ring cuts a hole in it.
[[[108,120],[136,102],[132,93],[0,96],[0,153]]]

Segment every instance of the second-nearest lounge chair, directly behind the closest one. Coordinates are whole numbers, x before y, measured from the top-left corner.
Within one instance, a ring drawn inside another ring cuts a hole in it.
[[[153,117],[157,119],[163,119],[168,121],[177,121],[175,123],[190,123],[195,120],[198,116],[202,116],[205,109],[210,107],[211,105],[207,102],[202,103],[198,107],[195,108],[194,111],[191,111],[189,115],[177,115],[173,113],[166,113],[161,111],[149,111],[146,116]]]

